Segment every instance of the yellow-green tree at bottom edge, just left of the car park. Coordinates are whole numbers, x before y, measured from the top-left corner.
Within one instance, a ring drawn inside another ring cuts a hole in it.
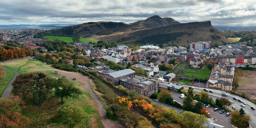
[[[207,121],[204,115],[185,111],[181,114],[179,124],[183,126],[182,128],[205,128],[204,124]]]

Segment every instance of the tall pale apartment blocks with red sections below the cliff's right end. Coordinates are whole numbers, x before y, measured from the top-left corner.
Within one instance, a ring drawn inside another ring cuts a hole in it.
[[[190,43],[189,49],[190,51],[203,51],[204,49],[211,48],[211,41],[198,41],[196,43]]]

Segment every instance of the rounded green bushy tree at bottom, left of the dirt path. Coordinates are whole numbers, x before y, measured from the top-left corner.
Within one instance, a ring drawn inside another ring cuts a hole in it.
[[[57,113],[58,121],[70,125],[72,128],[86,118],[83,108],[70,103],[61,106]]]

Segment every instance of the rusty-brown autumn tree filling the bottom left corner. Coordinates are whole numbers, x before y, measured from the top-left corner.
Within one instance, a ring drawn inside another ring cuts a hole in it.
[[[23,102],[18,96],[0,98],[0,128],[26,128],[29,118],[21,114]]]

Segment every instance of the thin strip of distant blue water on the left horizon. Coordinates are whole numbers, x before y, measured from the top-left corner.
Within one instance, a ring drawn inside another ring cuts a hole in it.
[[[11,30],[11,29],[52,29],[62,28],[70,25],[0,25],[0,30]]]

